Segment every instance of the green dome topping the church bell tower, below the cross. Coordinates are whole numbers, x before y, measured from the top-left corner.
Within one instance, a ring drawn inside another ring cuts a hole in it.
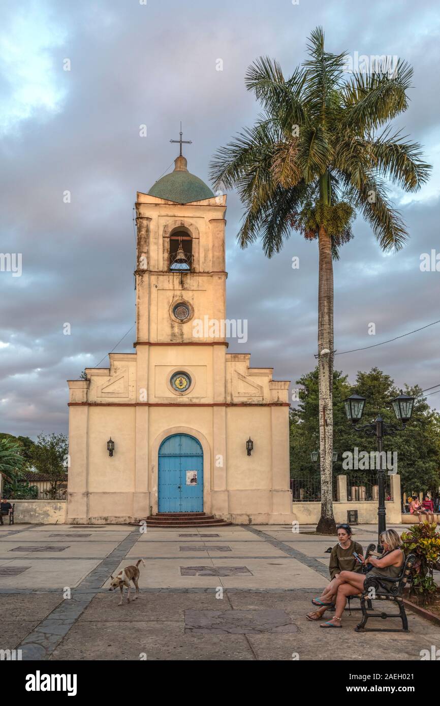
[[[165,177],[153,184],[148,191],[149,196],[166,198],[167,201],[176,203],[191,203],[191,201],[203,201],[204,198],[213,198],[214,194],[209,186],[186,169],[185,157],[177,157],[174,165],[174,172],[165,174]]]

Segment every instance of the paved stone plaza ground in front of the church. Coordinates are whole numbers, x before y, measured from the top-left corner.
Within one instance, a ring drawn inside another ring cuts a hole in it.
[[[342,630],[307,621],[335,544],[313,530],[4,525],[0,649],[49,660],[420,660],[440,646],[440,628],[409,611],[407,634],[355,633],[357,611]],[[376,529],[354,538],[366,549]],[[139,558],[141,594],[118,606],[109,576]]]

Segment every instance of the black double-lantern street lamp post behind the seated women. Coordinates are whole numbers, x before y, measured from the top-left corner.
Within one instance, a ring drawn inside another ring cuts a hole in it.
[[[366,398],[360,395],[350,395],[344,400],[345,413],[347,414],[347,419],[349,419],[356,431],[363,431],[367,436],[376,435],[377,440],[377,450],[379,455],[379,467],[377,469],[377,484],[379,487],[379,507],[377,510],[378,515],[378,543],[377,551],[381,554],[383,548],[381,546],[381,534],[386,530],[386,508],[385,508],[385,469],[382,463],[382,439],[383,436],[394,436],[398,431],[403,431],[405,429],[408,421],[411,419],[412,407],[414,405],[414,397],[409,395],[403,395],[402,390],[400,390],[400,395],[396,399],[391,400],[394,412],[398,421],[402,422],[402,426],[397,426],[396,424],[389,424],[383,421],[380,414],[376,417],[374,421],[369,424],[363,424],[362,426],[356,426],[357,421],[360,421],[362,417],[362,412],[364,412]]]

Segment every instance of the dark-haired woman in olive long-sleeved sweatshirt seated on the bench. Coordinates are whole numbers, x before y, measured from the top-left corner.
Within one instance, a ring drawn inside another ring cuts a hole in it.
[[[335,588],[336,578],[340,575],[341,571],[362,571],[362,561],[357,561],[357,558],[353,554],[353,552],[356,552],[356,554],[362,556],[362,545],[358,542],[353,542],[350,525],[336,525],[336,529],[338,530],[339,542],[333,546],[331,550],[330,563],[328,565],[330,583],[323,590],[319,598],[312,600],[314,606],[319,606],[319,609],[308,613],[306,616],[307,620],[321,620],[326,610],[333,606],[334,597],[338,590]]]

